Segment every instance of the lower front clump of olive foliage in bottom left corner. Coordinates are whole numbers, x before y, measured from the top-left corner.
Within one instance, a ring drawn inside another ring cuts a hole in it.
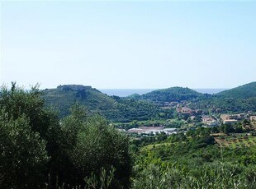
[[[2,188],[33,188],[42,183],[49,157],[45,141],[31,131],[25,115],[14,120],[1,109],[0,154]]]

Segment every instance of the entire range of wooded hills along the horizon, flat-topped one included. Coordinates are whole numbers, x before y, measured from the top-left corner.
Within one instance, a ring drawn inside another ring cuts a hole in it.
[[[183,87],[171,87],[126,98],[102,94],[91,86],[59,85],[56,89],[43,90],[42,97],[47,106],[59,112],[59,118],[68,116],[72,105],[78,103],[86,106],[89,113],[99,113],[112,122],[172,118],[172,113],[159,108],[170,102],[186,102],[189,107],[206,113],[209,109],[213,113],[256,112],[256,82],[216,95],[201,94]]]

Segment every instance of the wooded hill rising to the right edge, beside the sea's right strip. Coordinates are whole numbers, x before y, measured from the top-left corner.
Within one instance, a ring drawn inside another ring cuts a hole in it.
[[[249,99],[256,97],[256,82],[241,85],[231,90],[225,90],[216,94],[217,97],[230,99]]]

